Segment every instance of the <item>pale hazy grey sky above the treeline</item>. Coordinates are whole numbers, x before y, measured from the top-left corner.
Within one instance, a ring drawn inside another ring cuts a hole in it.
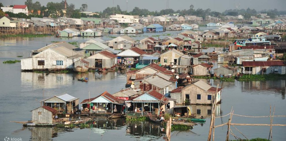
[[[26,0],[0,0],[3,5],[24,4]],[[47,0],[33,0],[39,1],[42,5],[47,5]],[[51,0],[53,2],[61,2],[62,0]],[[68,3],[75,4],[75,8],[81,7],[81,4],[88,4],[88,11],[99,12],[103,11],[106,7],[119,5],[122,10],[126,10],[126,0],[67,0]],[[113,4],[114,2],[114,4]],[[132,11],[134,7],[146,8],[150,11],[160,11],[166,9],[167,0],[128,0],[128,11]],[[189,9],[193,4],[194,8],[207,9],[213,11],[223,12],[226,9],[278,9],[286,10],[286,0],[169,0],[169,8],[174,10]],[[235,6],[236,5],[236,6]]]

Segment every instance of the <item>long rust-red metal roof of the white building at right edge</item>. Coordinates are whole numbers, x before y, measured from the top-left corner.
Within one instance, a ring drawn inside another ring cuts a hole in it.
[[[286,66],[283,61],[242,61],[242,66]]]

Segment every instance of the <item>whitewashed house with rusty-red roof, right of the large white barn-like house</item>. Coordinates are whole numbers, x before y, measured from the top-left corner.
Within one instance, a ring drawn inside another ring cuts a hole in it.
[[[92,68],[111,68],[117,62],[116,57],[116,55],[104,50],[97,52],[84,60],[89,62],[90,67]]]

